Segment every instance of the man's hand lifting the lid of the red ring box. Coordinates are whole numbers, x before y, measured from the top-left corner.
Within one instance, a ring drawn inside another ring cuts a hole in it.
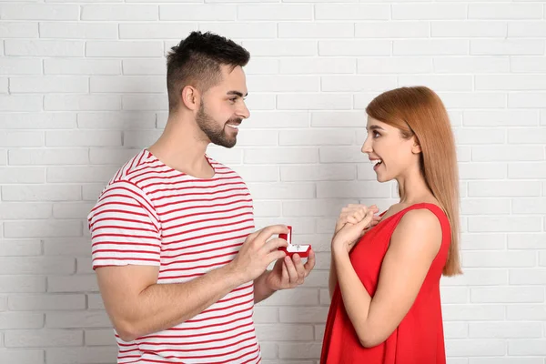
[[[258,278],[269,264],[286,257],[286,253],[278,248],[288,247],[288,242],[282,238],[269,238],[287,233],[288,227],[272,225],[248,235],[237,257],[229,263],[243,283]]]

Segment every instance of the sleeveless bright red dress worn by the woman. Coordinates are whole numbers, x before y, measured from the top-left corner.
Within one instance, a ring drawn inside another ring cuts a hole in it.
[[[372,227],[350,252],[350,262],[360,281],[373,295],[378,288],[381,263],[392,233],[400,218],[412,209],[428,208],[440,220],[440,251],[430,266],[419,294],[399,327],[384,342],[364,348],[343,306],[339,284],[329,308],[324,333],[321,364],[445,364],[443,324],[440,306],[440,278],[446,264],[451,241],[450,221],[433,204],[406,207]]]

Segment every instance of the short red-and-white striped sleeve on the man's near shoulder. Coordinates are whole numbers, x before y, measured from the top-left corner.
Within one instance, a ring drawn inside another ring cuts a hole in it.
[[[160,224],[146,194],[128,181],[108,185],[88,217],[93,269],[159,266]]]

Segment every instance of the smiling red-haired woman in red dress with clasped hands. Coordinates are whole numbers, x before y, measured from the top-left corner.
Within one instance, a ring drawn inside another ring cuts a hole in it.
[[[321,364],[444,364],[440,277],[460,274],[459,180],[450,120],[427,87],[366,109],[368,154],[399,203],[343,208],[332,238]],[[357,244],[358,243],[358,244]]]

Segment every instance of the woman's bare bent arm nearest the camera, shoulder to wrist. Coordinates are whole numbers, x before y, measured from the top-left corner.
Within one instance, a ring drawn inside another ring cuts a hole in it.
[[[338,245],[333,251],[343,304],[362,346],[379,345],[399,326],[440,250],[441,238],[440,222],[430,210],[406,213],[390,239],[373,298],[352,267],[347,248]]]

